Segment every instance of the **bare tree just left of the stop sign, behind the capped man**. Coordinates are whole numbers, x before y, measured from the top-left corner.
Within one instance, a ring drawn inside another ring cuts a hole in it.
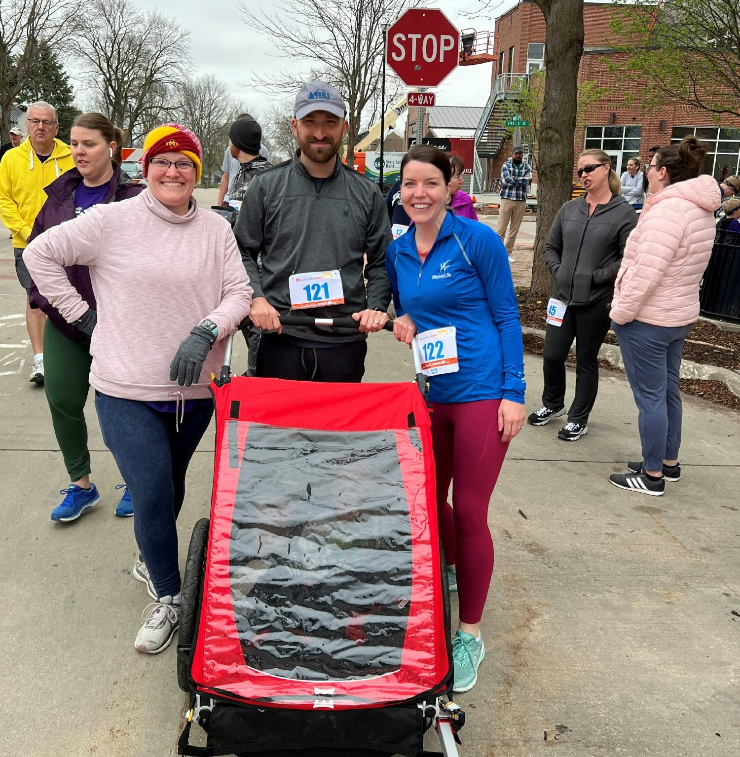
[[[380,89],[382,27],[417,0],[278,0],[272,13],[254,14],[239,3],[245,23],[273,39],[280,55],[307,61],[323,72],[347,103],[348,152],[361,130],[362,114]],[[310,79],[295,73],[254,76],[261,92],[287,95]],[[348,155],[347,163],[353,158]]]

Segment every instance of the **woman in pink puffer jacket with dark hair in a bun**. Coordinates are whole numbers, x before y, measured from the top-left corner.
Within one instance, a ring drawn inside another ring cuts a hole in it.
[[[706,152],[694,136],[657,151],[614,285],[612,328],[639,410],[642,461],[609,480],[641,494],[660,496],[665,481],[681,477],[681,352],[699,317],[699,285],[722,199],[717,181],[700,175]]]

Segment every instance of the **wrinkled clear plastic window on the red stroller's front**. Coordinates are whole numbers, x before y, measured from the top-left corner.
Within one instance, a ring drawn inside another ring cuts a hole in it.
[[[249,425],[229,545],[246,665],[308,681],[398,670],[411,575],[394,431]]]

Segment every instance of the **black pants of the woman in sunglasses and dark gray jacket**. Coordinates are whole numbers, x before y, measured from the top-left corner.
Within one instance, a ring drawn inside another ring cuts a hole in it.
[[[598,392],[598,350],[609,330],[608,300],[590,305],[569,305],[561,326],[548,323],[542,372],[545,391],[542,404],[558,410],[565,404],[565,361],[576,340],[576,397],[568,410],[568,420],[585,423]]]

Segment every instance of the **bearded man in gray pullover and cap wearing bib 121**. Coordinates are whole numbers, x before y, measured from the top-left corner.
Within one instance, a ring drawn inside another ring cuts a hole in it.
[[[359,382],[367,334],[388,320],[391,226],[377,185],[339,159],[345,116],[333,86],[305,85],[295,98],[295,157],[256,176],[242,201],[234,233],[254,287],[249,317],[270,332],[260,343],[258,376]],[[351,315],[358,331],[281,327],[279,316],[291,311]]]

